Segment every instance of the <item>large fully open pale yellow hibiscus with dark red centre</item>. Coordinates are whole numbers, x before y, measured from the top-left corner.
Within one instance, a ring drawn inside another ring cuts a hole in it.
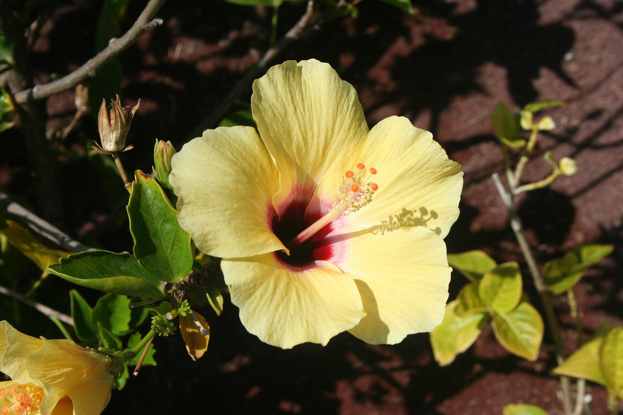
[[[204,131],[169,177],[181,226],[222,258],[247,330],[291,348],[439,325],[460,165],[407,118],[369,130],[354,88],[317,60],[272,67],[251,105],[259,135]]]

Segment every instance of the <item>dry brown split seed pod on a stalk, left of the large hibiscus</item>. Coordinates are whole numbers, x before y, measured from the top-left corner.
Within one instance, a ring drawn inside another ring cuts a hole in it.
[[[130,124],[134,113],[138,110],[139,102],[134,108],[121,107],[119,95],[112,101],[112,107],[106,107],[106,100],[102,100],[100,113],[97,117],[97,128],[100,131],[102,147],[104,153],[116,153],[117,151],[130,150],[132,146],[125,146],[125,138],[130,131]]]

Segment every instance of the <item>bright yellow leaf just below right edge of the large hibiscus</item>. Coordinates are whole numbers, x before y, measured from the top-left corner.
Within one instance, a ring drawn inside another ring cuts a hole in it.
[[[488,321],[486,313],[458,315],[458,300],[445,306],[444,320],[430,332],[430,345],[440,366],[450,365],[459,353],[463,353],[480,335]]]

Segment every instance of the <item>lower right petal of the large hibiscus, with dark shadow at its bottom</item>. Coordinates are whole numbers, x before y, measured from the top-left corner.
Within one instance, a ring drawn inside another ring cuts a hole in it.
[[[335,262],[350,273],[366,317],[348,330],[372,344],[394,344],[430,332],[444,317],[451,268],[444,241],[424,227],[328,236],[343,251]]]

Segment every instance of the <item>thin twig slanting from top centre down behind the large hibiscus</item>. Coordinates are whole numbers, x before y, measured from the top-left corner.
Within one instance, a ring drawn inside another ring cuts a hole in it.
[[[355,4],[356,2],[359,1],[355,0],[352,4]],[[216,123],[221,120],[229,108],[231,108],[234,100],[239,97],[242,91],[249,87],[250,83],[257,77],[260,70],[264,68],[270,60],[282,52],[282,50],[288,45],[300,39],[307,32],[335,17],[340,16],[343,8],[347,5],[348,3],[346,2],[340,2],[335,9],[331,9],[331,11],[326,14],[320,14],[320,16],[312,20],[314,2],[313,0],[309,0],[307,2],[305,14],[303,14],[298,22],[292,26],[292,29],[290,29],[277,43],[266,50],[262,58],[255,65],[253,65],[251,69],[249,69],[249,72],[247,72],[242,79],[239,80],[231,92],[227,94],[227,97],[221,101],[219,106],[216,107],[203,122],[196,126],[193,132],[186,138],[186,141],[189,141],[197,136],[201,136],[203,131],[207,128],[214,128]]]

